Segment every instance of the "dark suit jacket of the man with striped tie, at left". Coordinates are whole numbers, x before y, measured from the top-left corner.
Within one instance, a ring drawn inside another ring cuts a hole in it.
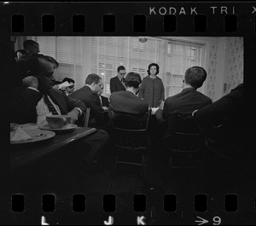
[[[42,93],[26,88],[18,88],[11,93],[10,120],[18,124],[37,123],[37,105],[43,97]],[[61,114],[67,114],[74,107],[79,107],[82,112],[85,106],[82,101],[64,95],[60,90],[50,89],[49,96],[60,107]]]

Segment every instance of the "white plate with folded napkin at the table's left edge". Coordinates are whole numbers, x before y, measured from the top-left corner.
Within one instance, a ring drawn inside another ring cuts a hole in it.
[[[49,130],[40,130],[36,125],[20,125],[20,128],[24,130],[29,136],[32,137],[32,140],[20,141],[20,142],[11,142],[11,144],[20,144],[20,143],[30,143],[30,142],[41,142],[48,140],[55,136],[54,131]],[[15,135],[15,131],[10,131],[10,139]]]

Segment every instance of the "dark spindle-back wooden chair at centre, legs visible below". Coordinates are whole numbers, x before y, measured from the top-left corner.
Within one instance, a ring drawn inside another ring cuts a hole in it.
[[[111,128],[110,138],[113,142],[115,161],[110,176],[110,183],[113,183],[113,175],[116,171],[118,164],[125,165],[140,165],[143,168],[143,179],[147,186],[147,165],[148,165],[148,148],[150,146],[150,139],[148,134],[148,124],[151,117],[151,109],[148,109],[148,113],[144,116],[146,119],[142,125],[142,128],[127,129],[122,128],[120,125],[120,119],[123,119],[125,125],[131,125],[134,121],[134,115],[127,113],[115,113],[108,108],[109,122]],[[130,121],[131,120],[131,121]],[[136,123],[136,125],[139,125]],[[133,127],[135,128],[135,127]],[[137,157],[137,159],[136,159]]]

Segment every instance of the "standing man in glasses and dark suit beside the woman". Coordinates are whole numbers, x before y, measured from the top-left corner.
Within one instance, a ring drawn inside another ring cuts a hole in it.
[[[119,66],[117,76],[110,78],[110,92],[125,91],[125,67]]]

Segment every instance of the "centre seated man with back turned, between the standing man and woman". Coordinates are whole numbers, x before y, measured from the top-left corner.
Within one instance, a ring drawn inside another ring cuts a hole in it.
[[[131,125],[131,120],[120,122],[123,126],[139,127],[140,123],[145,122],[145,113],[148,112],[148,104],[140,99],[137,94],[139,86],[142,84],[142,78],[137,72],[129,72],[125,78],[125,91],[114,92],[110,96],[109,106],[114,112],[129,113],[134,119],[134,125]],[[126,123],[126,124],[125,124]]]

